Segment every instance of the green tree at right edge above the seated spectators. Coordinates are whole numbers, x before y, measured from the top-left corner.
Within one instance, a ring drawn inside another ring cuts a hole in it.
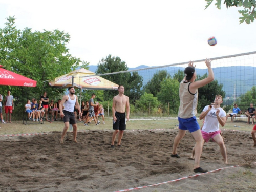
[[[238,102],[238,106],[241,110],[247,110],[250,103],[253,103],[254,105],[256,103],[256,86],[253,86],[250,91],[247,91],[245,94],[240,96],[240,102]]]

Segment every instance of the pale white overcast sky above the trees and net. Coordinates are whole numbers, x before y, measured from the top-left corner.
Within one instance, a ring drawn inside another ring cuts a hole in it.
[[[256,21],[239,24],[238,8],[214,3],[204,10],[204,0],[0,0],[0,28],[15,16],[18,29],[65,31],[70,54],[90,65],[109,54],[131,68],[256,51]]]

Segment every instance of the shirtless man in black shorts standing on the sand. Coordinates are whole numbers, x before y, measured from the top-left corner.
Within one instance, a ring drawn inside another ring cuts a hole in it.
[[[112,114],[113,114],[113,130],[111,148],[115,148],[116,134],[119,132],[117,146],[121,146],[121,139],[123,137],[123,132],[126,129],[126,118],[129,121],[129,97],[124,95],[124,87],[118,87],[119,94],[113,98]],[[127,116],[125,117],[125,108]]]

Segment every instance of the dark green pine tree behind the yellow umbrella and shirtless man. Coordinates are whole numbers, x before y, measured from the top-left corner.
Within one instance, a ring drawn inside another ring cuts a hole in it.
[[[119,57],[112,57],[108,55],[106,58],[102,58],[98,63],[98,68],[96,70],[96,74],[104,74],[104,73],[113,73],[119,71],[127,71],[129,68],[127,67],[125,61],[122,61]],[[104,75],[102,76],[105,79],[108,79],[116,84],[123,85],[125,92],[130,99],[130,102],[134,103],[138,100],[142,95],[142,82],[143,78],[138,74],[138,72],[127,72],[127,73],[119,73],[114,75]],[[116,91],[104,91],[104,99],[112,100],[118,92]]]

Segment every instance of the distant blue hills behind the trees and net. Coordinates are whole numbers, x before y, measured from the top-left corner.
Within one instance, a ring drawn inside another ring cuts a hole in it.
[[[98,66],[89,66],[89,70],[95,72]],[[149,66],[141,65],[136,68],[129,68],[129,70],[150,68]],[[178,70],[184,70],[182,67],[167,67],[167,68],[156,68],[150,70],[140,70],[139,75],[143,77],[143,84],[146,84],[151,80],[153,75],[159,70],[167,70],[171,76],[173,76]],[[236,96],[245,94],[254,85],[256,85],[256,67],[248,66],[232,66],[232,67],[218,67],[212,68],[215,74],[215,79],[218,80],[219,84],[223,84],[223,90],[227,96],[233,96],[234,90],[236,89]],[[197,69],[198,75],[204,75],[208,73],[207,69]]]

